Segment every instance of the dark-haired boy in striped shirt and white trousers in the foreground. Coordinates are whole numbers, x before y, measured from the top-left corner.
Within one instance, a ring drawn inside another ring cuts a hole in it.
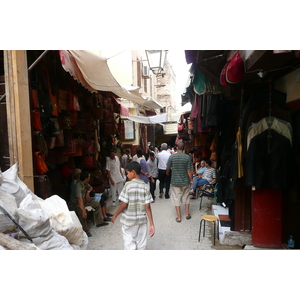
[[[147,245],[147,218],[150,223],[149,235],[155,233],[150,203],[153,202],[149,185],[140,179],[141,166],[131,162],[126,167],[127,177],[119,200],[122,201],[117,212],[112,216],[114,223],[120,213],[125,250],[145,250]]]

